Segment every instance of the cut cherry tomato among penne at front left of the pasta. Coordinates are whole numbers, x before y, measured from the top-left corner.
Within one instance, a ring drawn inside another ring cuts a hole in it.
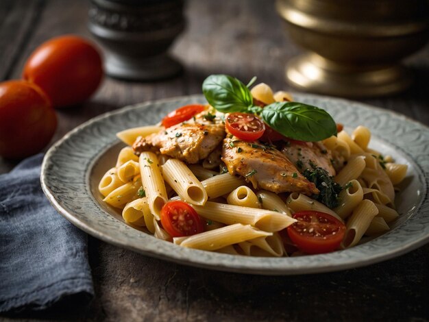
[[[197,212],[183,201],[169,201],[161,209],[161,223],[172,237],[191,236],[204,232]]]

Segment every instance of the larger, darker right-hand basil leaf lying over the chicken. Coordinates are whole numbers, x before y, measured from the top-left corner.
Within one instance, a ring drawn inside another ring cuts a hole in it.
[[[265,106],[262,119],[288,138],[319,141],[336,135],[336,124],[321,108],[298,102],[275,102]]]

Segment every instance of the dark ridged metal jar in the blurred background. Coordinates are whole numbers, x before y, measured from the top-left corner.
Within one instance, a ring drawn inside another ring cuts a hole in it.
[[[171,77],[182,66],[167,55],[184,29],[183,0],[91,0],[90,32],[101,42],[106,73],[131,80]]]

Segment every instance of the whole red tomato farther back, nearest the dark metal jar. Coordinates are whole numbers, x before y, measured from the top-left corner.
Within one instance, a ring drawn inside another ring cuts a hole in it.
[[[47,93],[55,107],[82,103],[95,92],[102,77],[99,52],[77,36],[61,36],[40,45],[23,73],[24,79]]]

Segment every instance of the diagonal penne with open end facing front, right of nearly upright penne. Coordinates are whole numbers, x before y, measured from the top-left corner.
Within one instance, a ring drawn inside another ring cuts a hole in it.
[[[206,190],[184,162],[169,159],[161,168],[165,181],[184,201],[193,205],[206,203]]]

